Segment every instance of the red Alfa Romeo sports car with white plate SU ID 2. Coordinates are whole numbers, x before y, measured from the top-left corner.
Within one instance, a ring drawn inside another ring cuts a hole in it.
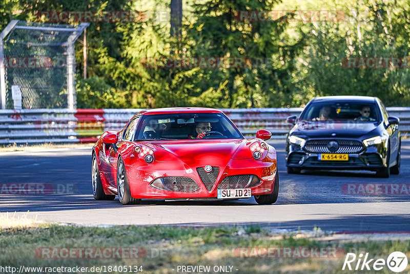
[[[92,151],[96,200],[123,205],[141,199],[278,198],[276,151],[264,140],[244,139],[223,114],[211,108],[162,108],[138,112],[121,131],[106,131]]]

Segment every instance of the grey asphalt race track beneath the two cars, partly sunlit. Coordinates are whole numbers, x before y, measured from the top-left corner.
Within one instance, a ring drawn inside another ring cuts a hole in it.
[[[271,144],[278,152],[280,178],[279,199],[274,205],[257,205],[253,198],[142,200],[141,205],[135,206],[121,206],[118,199],[95,201],[91,191],[91,150],[59,149],[0,153],[0,214],[16,211],[18,216],[29,210],[29,218],[92,225],[259,224],[290,230],[320,227],[337,232],[410,231],[410,193],[401,188],[410,181],[410,142],[402,143],[401,173],[389,179],[377,178],[370,171],[288,174],[284,144]],[[344,184],[360,183],[372,184],[367,185],[368,193],[376,191],[374,184],[383,184],[378,192],[396,185],[401,194],[363,193],[359,191],[360,185],[353,185],[359,194],[342,190],[346,190]],[[10,193],[10,184],[30,191]],[[41,190],[52,193],[41,194]]]

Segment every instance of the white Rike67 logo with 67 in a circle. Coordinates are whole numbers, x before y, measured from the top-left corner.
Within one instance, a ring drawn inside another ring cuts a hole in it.
[[[342,270],[382,270],[385,266],[391,271],[401,272],[407,267],[407,257],[400,251],[390,253],[387,260],[382,258],[370,259],[368,253],[364,256],[363,253],[360,253],[359,256],[356,256],[355,253],[347,253]]]

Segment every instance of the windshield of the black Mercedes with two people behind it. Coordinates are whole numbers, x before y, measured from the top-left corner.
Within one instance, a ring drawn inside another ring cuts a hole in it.
[[[300,118],[304,121],[377,122],[380,113],[376,104],[361,102],[312,103]]]

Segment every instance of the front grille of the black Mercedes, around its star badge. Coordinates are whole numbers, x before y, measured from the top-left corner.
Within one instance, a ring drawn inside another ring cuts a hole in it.
[[[331,141],[336,141],[339,144],[336,151],[331,151],[327,147]],[[306,142],[304,150],[315,153],[359,153],[363,150],[363,145],[357,140],[309,140]]]

